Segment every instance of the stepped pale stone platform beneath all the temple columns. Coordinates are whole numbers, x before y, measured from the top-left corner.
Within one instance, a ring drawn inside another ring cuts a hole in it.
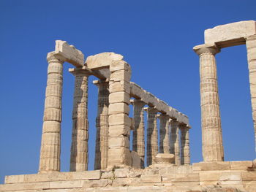
[[[51,172],[5,177],[0,191],[204,191],[207,186],[256,192],[252,161],[200,162],[192,166],[154,164],[146,169]]]

